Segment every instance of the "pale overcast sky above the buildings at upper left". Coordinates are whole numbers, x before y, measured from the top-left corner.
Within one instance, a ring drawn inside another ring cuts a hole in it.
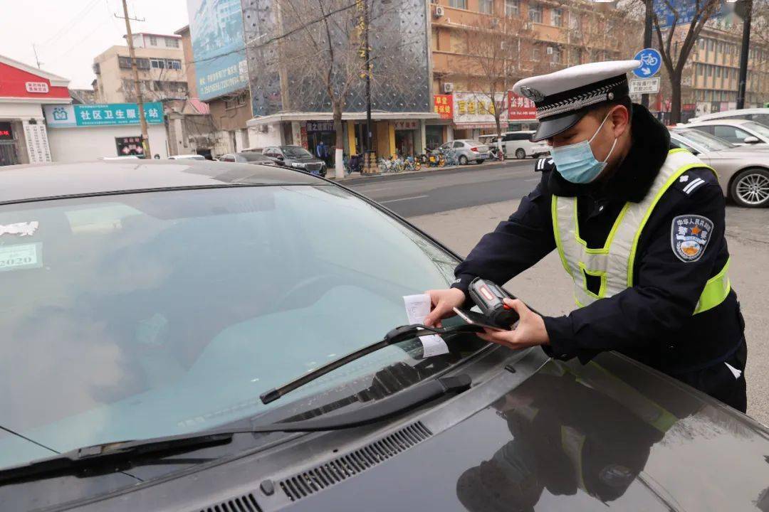
[[[0,0],[0,55],[35,66],[32,43],[41,68],[70,79],[70,88],[91,88],[96,55],[112,45],[125,45],[122,0]],[[135,32],[173,34],[187,25],[186,0],[128,0]]]

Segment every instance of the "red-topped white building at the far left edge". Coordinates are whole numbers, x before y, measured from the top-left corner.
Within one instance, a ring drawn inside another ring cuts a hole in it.
[[[69,104],[66,78],[0,55],[0,166],[52,161],[42,104]]]

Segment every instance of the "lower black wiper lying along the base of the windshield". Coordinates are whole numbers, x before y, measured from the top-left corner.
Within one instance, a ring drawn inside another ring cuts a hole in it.
[[[443,377],[420,382],[411,388],[381,398],[355,411],[343,412],[331,417],[323,416],[305,421],[253,425],[250,428],[211,429],[191,434],[139,441],[117,441],[76,448],[54,457],[0,470],[0,486],[15,481],[35,480],[39,477],[52,477],[60,474],[84,473],[92,476],[99,474],[98,471],[94,471],[95,467],[104,467],[105,472],[112,473],[116,471],[116,465],[121,463],[125,465],[125,462],[140,457],[149,455],[166,457],[198,448],[228,444],[235,434],[330,431],[357,427],[389,418],[449,393],[465,391],[470,388],[470,385],[471,380],[468,375]],[[123,468],[119,467],[119,469]]]

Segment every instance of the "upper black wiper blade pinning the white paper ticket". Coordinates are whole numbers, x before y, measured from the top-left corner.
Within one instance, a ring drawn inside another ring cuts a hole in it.
[[[384,347],[403,342],[407,339],[428,334],[447,335],[459,334],[462,332],[483,332],[483,328],[478,327],[478,325],[469,324],[452,325],[451,327],[443,328],[428,327],[427,325],[422,324],[401,325],[400,327],[396,327],[384,335],[384,338],[380,341],[371,343],[371,345],[366,345],[363,348],[358,348],[358,350],[355,352],[350,352],[348,355],[343,355],[341,358],[328,362],[319,368],[315,368],[315,370],[305,373],[305,375],[295,378],[291,382],[286,382],[284,385],[281,385],[278,388],[272,388],[269,391],[265,391],[259,395],[259,398],[261,399],[262,404],[269,404],[271,401],[278,400],[278,398],[281,398],[283,395],[287,395],[291,391],[294,391],[297,388],[301,388],[301,386],[314,381],[316,378],[320,378],[323,375],[326,375],[328,372],[333,372],[335,369],[340,368],[341,366],[360,359],[365,355],[371,354],[371,352],[376,352]]]

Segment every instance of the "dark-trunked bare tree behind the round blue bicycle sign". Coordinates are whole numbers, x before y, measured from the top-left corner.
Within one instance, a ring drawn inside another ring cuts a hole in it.
[[[686,13],[679,11],[671,0],[662,0],[672,14],[671,27],[667,28],[667,34],[663,35],[661,21],[654,13],[654,32],[657,34],[657,43],[662,54],[662,62],[667,71],[667,78],[671,85],[671,124],[681,121],[681,77],[684,72],[691,49],[697,41],[702,28],[707,20],[713,16],[721,5],[721,0],[693,0],[694,11],[691,13],[691,21],[679,25]]]

